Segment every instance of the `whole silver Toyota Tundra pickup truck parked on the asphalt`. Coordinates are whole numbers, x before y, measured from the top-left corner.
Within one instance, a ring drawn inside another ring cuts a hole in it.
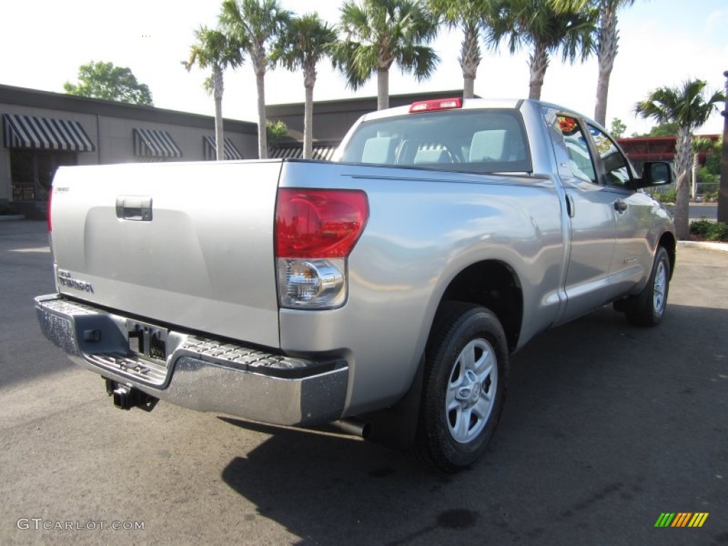
[[[121,408],[336,422],[457,470],[537,333],[660,322],[676,239],[641,189],[671,180],[566,108],[459,98],[363,116],[334,162],[62,167],[38,320]]]

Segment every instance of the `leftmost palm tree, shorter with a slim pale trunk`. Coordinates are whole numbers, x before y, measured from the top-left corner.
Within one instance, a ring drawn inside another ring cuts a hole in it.
[[[189,72],[197,64],[200,68],[210,68],[212,74],[205,80],[205,90],[211,92],[215,100],[215,153],[218,161],[223,154],[223,72],[228,66],[242,65],[243,57],[240,44],[229,39],[221,31],[201,26],[194,31],[197,41],[189,48],[189,59],[182,64]]]

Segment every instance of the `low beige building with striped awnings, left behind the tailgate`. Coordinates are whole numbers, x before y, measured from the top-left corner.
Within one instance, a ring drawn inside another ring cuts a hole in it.
[[[215,120],[0,85],[0,204],[42,218],[61,165],[215,159]],[[225,159],[258,157],[257,125],[226,119]]]

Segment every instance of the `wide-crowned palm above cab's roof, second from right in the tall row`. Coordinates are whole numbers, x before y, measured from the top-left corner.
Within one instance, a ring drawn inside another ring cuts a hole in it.
[[[507,39],[511,53],[531,45],[529,98],[539,99],[551,55],[561,50],[564,62],[574,63],[591,54],[597,15],[573,1],[501,0],[491,43]]]

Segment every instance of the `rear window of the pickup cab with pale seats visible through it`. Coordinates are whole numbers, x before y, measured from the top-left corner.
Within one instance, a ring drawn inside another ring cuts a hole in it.
[[[342,162],[468,173],[530,173],[531,155],[516,110],[407,114],[363,122]]]

